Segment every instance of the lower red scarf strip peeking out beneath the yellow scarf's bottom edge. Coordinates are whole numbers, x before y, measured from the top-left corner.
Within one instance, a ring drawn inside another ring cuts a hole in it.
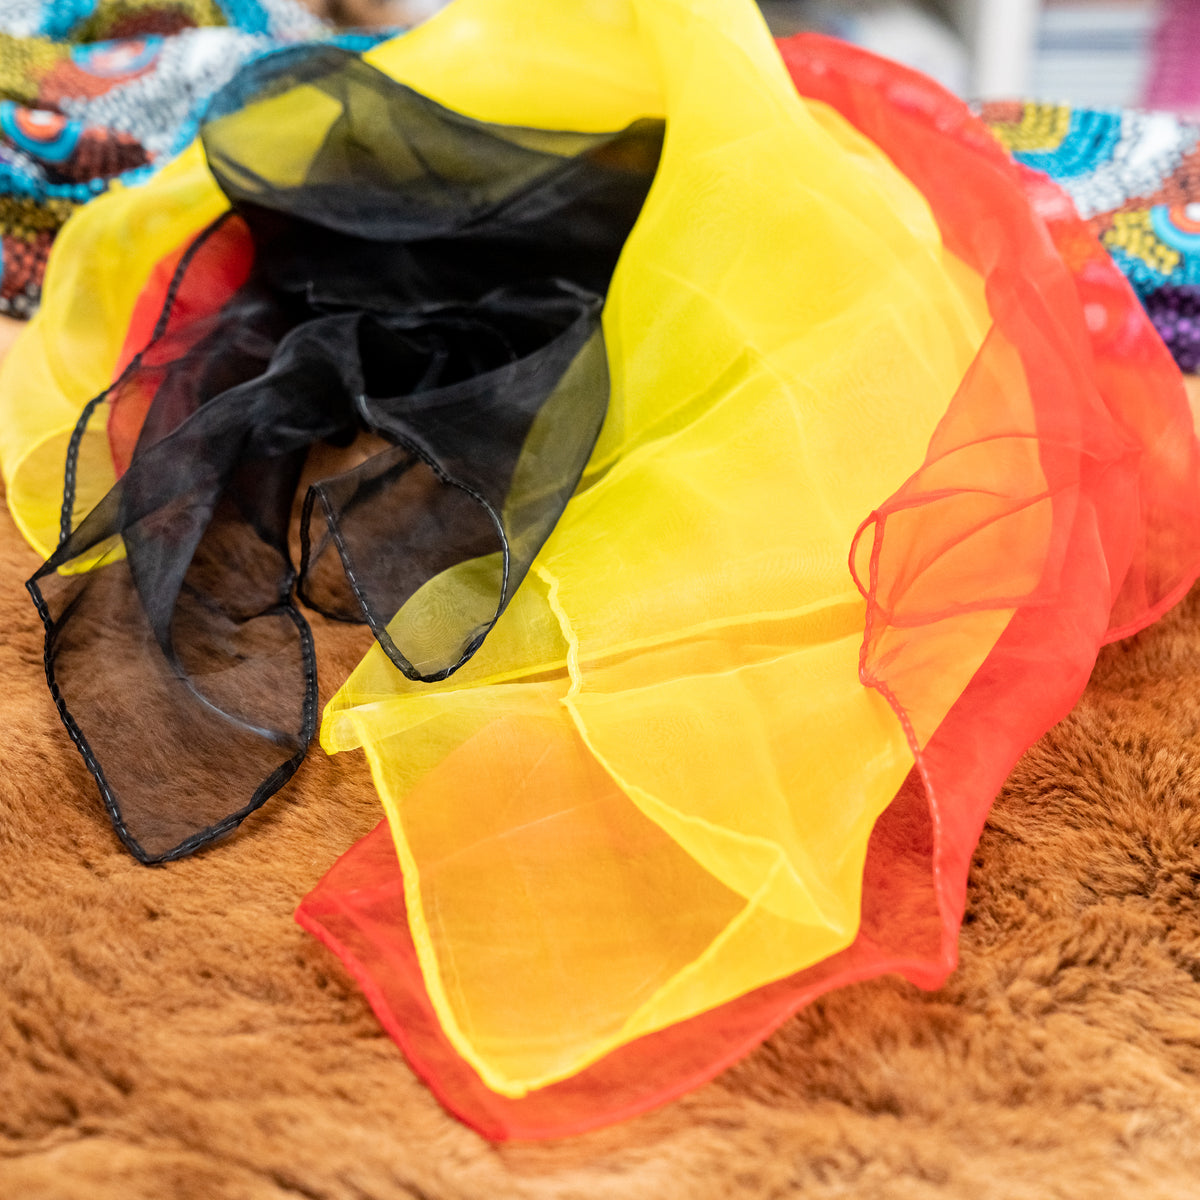
[[[912,779],[871,836],[871,884],[852,947],[799,976],[622,1046],[578,1075],[521,1099],[490,1091],[434,1016],[408,934],[386,821],[338,859],[304,899],[296,920],[342,960],[383,1027],[450,1112],[493,1141],[564,1138],[628,1120],[700,1087],[830,988],[889,971],[936,988],[953,964],[940,960],[931,847],[929,806]],[[888,936],[893,929],[902,929],[908,944],[898,948]]]

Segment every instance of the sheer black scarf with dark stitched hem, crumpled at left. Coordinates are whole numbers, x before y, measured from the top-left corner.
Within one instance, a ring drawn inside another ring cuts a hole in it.
[[[413,679],[478,649],[604,419],[602,298],[662,125],[488,126],[325,47],[244,71],[203,142],[232,214],[101,397],[149,402],[128,470],[71,529],[72,456],[64,540],[29,582],[59,712],[144,862],[228,832],[301,762],[317,691],[298,593],[370,623]],[[246,283],[173,325],[239,238]],[[307,452],[364,432],[383,449],[311,488],[296,570]],[[451,604],[422,593],[451,568]]]

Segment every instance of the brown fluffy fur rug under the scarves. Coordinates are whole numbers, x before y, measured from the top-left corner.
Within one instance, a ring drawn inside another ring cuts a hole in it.
[[[846,989],[666,1109],[497,1147],[292,922],[379,817],[361,758],[137,865],[46,691],[35,565],[0,514],[4,1200],[1200,1195],[1200,592],[1019,764],[942,991]],[[317,636],[328,696],[365,640]]]

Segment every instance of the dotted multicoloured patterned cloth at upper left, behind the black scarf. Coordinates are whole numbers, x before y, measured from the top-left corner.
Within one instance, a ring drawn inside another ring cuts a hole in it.
[[[78,205],[178,154],[245,62],[325,29],[295,0],[2,0],[0,313],[37,306]]]

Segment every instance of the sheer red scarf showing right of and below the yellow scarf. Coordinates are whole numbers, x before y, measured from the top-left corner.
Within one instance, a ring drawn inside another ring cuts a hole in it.
[[[493,1080],[445,1028],[422,947],[427,925],[412,911],[414,894],[421,899],[412,874],[424,880],[425,864],[406,856],[401,839],[401,878],[383,826],[350,851],[305,900],[299,919],[343,958],[443,1102],[493,1138],[576,1133],[662,1103],[710,1078],[829,988],[887,971],[937,986],[955,961],[970,857],[1006,774],[1069,709],[1102,642],[1153,620],[1200,563],[1198,450],[1182,382],[1133,293],[1069,204],[1043,181],[1019,174],[986,130],[930,82],[818,38],[797,38],[782,50],[811,110],[830,128],[841,127],[835,110],[853,122],[922,190],[947,248],[984,276],[994,318],[924,463],[877,503],[854,544],[868,598],[862,680],[886,695],[907,726],[917,769],[874,826],[862,920],[845,949],[520,1098],[497,1094]],[[865,455],[872,450],[864,444]],[[566,522],[570,514],[569,506]],[[569,529],[564,522],[547,551]],[[971,661],[977,623],[989,614],[1007,618],[1000,636],[946,710],[947,670],[961,665],[964,654]],[[533,622],[526,626],[535,629]],[[496,630],[487,650],[500,644],[503,632]],[[620,661],[644,654],[638,648]],[[368,659],[359,679],[370,667]],[[575,670],[587,682],[586,670]],[[370,674],[374,684],[383,678]],[[793,678],[793,688],[832,696],[804,676]],[[451,695],[445,703],[469,702]],[[415,739],[389,740],[383,732],[394,703],[368,692],[349,710],[385,797],[396,762],[421,754]],[[694,710],[676,712],[679,726],[691,732]],[[326,736],[340,734],[344,720],[335,702]],[[769,730],[770,721],[760,728]],[[559,734],[558,744],[565,742]],[[685,752],[664,758],[683,772],[694,761],[686,751],[697,743],[677,744]],[[460,760],[474,749],[467,745]],[[546,756],[553,745],[547,737]],[[869,745],[856,749],[832,750],[845,755],[851,774],[870,763]],[[749,775],[754,760],[748,754],[742,761]],[[698,764],[709,769],[703,757]],[[424,766],[422,754],[410,769],[421,775]],[[403,832],[410,805],[418,820],[434,809],[430,792],[445,769],[446,763],[431,769],[394,800],[394,827]],[[586,774],[586,767],[577,769]],[[468,778],[464,770],[455,761],[446,774],[457,782]],[[810,776],[794,786],[812,782]],[[449,791],[440,799],[454,803]],[[496,848],[509,852],[506,841]],[[640,868],[646,860],[635,862]],[[530,868],[526,880],[536,884],[540,876]],[[659,887],[655,901],[690,899],[676,876],[660,876]],[[522,902],[527,896],[528,887]],[[637,920],[655,919],[656,907]],[[490,936],[508,947],[499,922]],[[774,946],[780,959],[784,944]],[[475,959],[481,944],[454,949],[456,961]],[[602,941],[599,949],[612,954],[614,946]]]

